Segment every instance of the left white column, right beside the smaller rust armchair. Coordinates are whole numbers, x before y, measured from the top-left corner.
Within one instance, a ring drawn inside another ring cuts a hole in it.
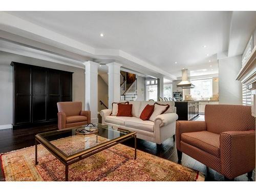
[[[86,66],[86,111],[91,111],[91,122],[98,123],[98,66],[97,62],[87,61]]]

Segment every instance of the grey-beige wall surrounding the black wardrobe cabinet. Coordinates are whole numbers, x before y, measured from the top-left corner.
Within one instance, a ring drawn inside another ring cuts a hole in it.
[[[82,101],[84,109],[84,70],[54,62],[0,51],[0,125],[12,123],[13,68],[11,61],[73,72],[73,101]]]

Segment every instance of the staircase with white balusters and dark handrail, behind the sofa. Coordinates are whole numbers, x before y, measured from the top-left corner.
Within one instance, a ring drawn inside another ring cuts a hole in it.
[[[128,88],[126,88],[126,80],[122,81],[123,75],[120,78],[120,82],[122,82],[120,85],[121,100],[135,101],[137,99],[137,78]]]

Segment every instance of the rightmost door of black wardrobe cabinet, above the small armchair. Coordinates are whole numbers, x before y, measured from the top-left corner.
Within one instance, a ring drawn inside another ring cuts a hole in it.
[[[61,101],[72,101],[72,73],[61,74]]]

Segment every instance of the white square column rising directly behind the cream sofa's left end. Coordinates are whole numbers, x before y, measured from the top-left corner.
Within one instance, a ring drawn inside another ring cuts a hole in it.
[[[113,102],[120,100],[120,63],[111,62],[106,64],[109,67],[109,109]]]

